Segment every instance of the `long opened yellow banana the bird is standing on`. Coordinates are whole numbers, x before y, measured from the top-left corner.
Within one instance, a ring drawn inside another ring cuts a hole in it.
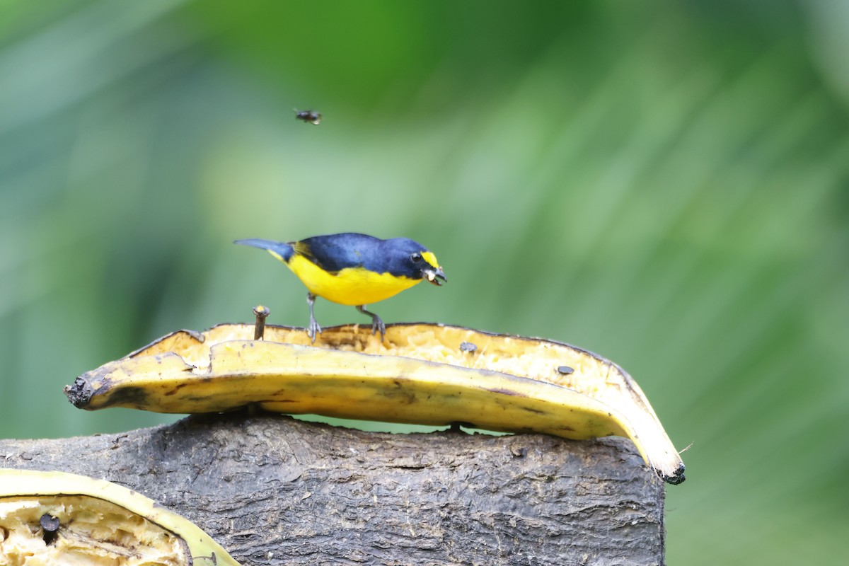
[[[75,406],[154,412],[271,412],[393,423],[463,423],[583,440],[630,438],[650,468],[684,480],[678,451],[637,383],[587,350],[547,339],[442,324],[393,324],[381,341],[359,325],[302,328],[222,324],[179,330],[82,374]]]

